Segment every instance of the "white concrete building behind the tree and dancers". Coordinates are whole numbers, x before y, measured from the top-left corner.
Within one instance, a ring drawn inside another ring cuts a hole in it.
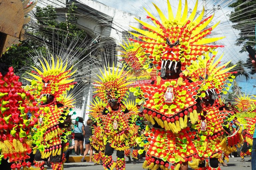
[[[67,7],[72,2],[75,2],[77,8],[77,16],[79,17],[78,26],[88,33],[91,41],[99,42],[97,47],[101,53],[105,55],[109,60],[107,62],[113,63],[117,61],[116,47],[122,44],[123,39],[126,39],[128,31],[133,31],[129,26],[140,28],[140,24],[134,19],[139,16],[106,6],[96,0],[41,0],[37,3],[39,7],[46,7],[47,5],[54,6],[58,13],[58,20],[65,21],[65,13]],[[91,56],[95,57],[94,54]],[[102,56],[104,57],[104,56]],[[97,58],[95,58],[97,60]],[[92,65],[87,71],[90,73],[97,73],[99,70],[98,65]],[[86,70],[82,71],[86,72]],[[91,79],[87,78],[84,82],[88,82],[84,88],[85,93],[83,97],[82,108],[75,108],[77,113],[72,118],[75,120],[77,116],[83,117],[84,122],[88,119],[88,105],[90,105],[90,99],[92,98]]]

